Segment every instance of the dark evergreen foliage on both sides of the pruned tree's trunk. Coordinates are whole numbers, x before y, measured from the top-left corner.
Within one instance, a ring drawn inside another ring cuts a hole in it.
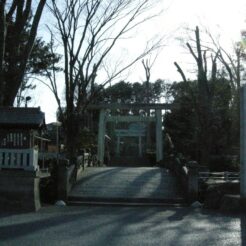
[[[231,100],[232,89],[230,81],[225,78],[209,81],[211,93],[211,123],[210,123],[210,152],[206,166],[211,168],[214,158],[231,153]],[[191,93],[192,90],[192,93]],[[175,148],[188,159],[200,163],[200,128],[197,120],[197,105],[193,97],[198,97],[197,81],[175,82],[169,85],[167,94],[173,98],[172,110],[166,112],[164,129],[170,134]],[[217,158],[217,162],[219,162]],[[221,164],[221,163],[220,163]],[[217,166],[218,167],[218,166]]]

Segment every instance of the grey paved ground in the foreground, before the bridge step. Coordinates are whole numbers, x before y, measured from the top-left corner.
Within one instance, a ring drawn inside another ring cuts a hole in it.
[[[244,246],[246,215],[191,208],[48,207],[0,212],[1,246]]]

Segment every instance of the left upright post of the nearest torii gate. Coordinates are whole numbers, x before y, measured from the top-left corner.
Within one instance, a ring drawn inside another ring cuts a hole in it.
[[[97,147],[97,158],[100,165],[104,162],[104,143],[105,143],[105,109],[101,109],[99,117],[98,127],[98,147]]]

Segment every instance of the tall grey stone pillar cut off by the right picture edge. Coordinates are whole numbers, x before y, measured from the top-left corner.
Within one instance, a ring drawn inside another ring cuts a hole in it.
[[[246,199],[246,85],[240,92],[240,193]]]

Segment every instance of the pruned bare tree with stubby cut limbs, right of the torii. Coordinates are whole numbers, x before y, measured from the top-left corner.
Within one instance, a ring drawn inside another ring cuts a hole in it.
[[[198,83],[198,92],[197,96],[192,91],[191,88],[191,96],[193,99],[193,103],[196,109],[197,120],[200,126],[200,132],[198,136],[199,142],[199,160],[202,165],[207,165],[209,163],[210,156],[210,147],[212,141],[211,135],[211,111],[212,111],[212,95],[211,89],[209,86],[209,81],[215,81],[217,76],[217,60],[218,60],[218,52],[211,52],[211,48],[203,47],[200,39],[200,31],[199,28],[195,29],[195,46],[192,47],[190,43],[186,43],[186,46],[193,56],[196,67],[197,67],[197,83]],[[208,52],[210,51],[211,57],[211,78],[208,76]],[[186,76],[178,65],[177,62],[174,63],[178,72],[180,73],[184,82],[187,82]],[[187,83],[188,84],[188,83]]]

